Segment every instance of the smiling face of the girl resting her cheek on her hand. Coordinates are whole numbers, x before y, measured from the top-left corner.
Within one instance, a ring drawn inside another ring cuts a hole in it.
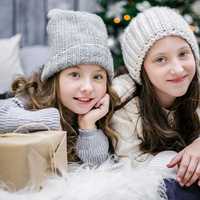
[[[62,104],[76,114],[86,114],[107,91],[106,71],[98,65],[78,65],[61,71]]]

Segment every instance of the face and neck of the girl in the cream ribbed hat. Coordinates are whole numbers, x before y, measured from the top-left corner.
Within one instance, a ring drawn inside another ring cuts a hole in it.
[[[144,60],[144,70],[161,105],[170,107],[176,97],[187,92],[196,64],[189,44],[180,37],[168,36],[152,46]]]

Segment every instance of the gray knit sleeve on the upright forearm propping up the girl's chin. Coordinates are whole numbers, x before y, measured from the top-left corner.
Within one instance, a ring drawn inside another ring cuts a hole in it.
[[[100,165],[108,158],[109,142],[101,129],[79,129],[76,154],[84,162]]]

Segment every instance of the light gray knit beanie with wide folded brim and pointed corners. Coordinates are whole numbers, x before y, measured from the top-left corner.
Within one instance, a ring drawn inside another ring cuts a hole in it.
[[[67,67],[97,64],[113,77],[113,59],[107,45],[103,20],[87,12],[50,10],[47,25],[50,57],[44,65],[44,81]]]

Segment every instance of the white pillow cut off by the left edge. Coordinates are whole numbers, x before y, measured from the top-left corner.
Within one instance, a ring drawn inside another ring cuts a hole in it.
[[[21,35],[0,39],[0,94],[10,91],[11,83],[23,75],[19,56]]]

